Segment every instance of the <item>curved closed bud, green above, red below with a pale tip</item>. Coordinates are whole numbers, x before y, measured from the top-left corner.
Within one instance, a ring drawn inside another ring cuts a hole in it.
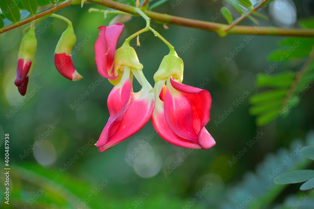
[[[72,24],[62,33],[55,50],[55,65],[59,73],[71,81],[81,80],[83,77],[75,70],[71,51],[76,42]]]

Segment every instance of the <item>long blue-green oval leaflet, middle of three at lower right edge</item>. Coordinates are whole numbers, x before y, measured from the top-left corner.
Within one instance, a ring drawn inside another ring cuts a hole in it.
[[[297,170],[281,174],[274,179],[276,184],[295,184],[314,178],[314,170]]]

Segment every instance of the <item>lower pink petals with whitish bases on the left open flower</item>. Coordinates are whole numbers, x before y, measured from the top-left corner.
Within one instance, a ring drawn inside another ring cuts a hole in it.
[[[152,89],[152,88],[151,88]],[[154,110],[155,96],[149,89],[133,93],[130,70],[124,70],[121,81],[108,98],[110,118],[96,144],[105,151],[138,132]]]

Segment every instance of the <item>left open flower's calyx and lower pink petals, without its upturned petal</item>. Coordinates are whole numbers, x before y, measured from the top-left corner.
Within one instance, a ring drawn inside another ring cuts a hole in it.
[[[135,50],[122,46],[116,50],[115,71],[121,80],[109,94],[107,105],[110,118],[103,129],[96,146],[105,151],[138,132],[151,117],[155,95],[153,87],[143,75]],[[133,75],[142,89],[134,93]]]

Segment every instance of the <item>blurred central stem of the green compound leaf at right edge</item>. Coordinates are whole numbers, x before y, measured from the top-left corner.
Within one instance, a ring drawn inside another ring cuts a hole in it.
[[[304,74],[306,73],[307,69],[309,69],[311,63],[313,62],[314,60],[314,47],[309,55],[309,57],[306,59],[304,65],[302,66],[302,68],[300,69],[300,71],[296,74],[295,76],[295,80],[292,82],[292,85],[290,86],[288,92],[287,92],[287,95],[284,97],[284,101],[282,102],[282,106],[281,106],[281,109],[284,108],[290,98],[293,96],[296,88],[299,86],[300,84],[300,81],[302,80]]]

